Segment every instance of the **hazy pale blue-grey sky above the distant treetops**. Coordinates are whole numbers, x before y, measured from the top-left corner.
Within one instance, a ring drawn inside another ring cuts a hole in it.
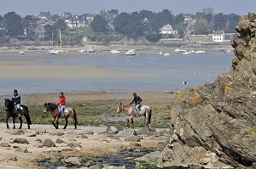
[[[119,13],[143,9],[158,13],[169,9],[177,15],[196,14],[209,7],[214,14],[245,15],[256,12],[256,0],[1,0],[0,15],[15,12],[25,17],[47,11],[50,14],[99,14],[101,9],[118,9]]]

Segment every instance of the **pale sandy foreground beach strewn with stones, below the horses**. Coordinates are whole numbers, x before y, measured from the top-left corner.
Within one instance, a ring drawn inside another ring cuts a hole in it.
[[[154,136],[143,137],[139,142],[125,141],[124,135],[118,138],[108,137],[104,134],[107,127],[55,130],[51,125],[32,125],[30,130],[8,130],[3,123],[0,127],[1,168],[44,168],[38,166],[40,161],[55,163],[68,157],[111,155],[123,149],[157,147],[166,143],[165,138]],[[132,134],[132,130],[125,129],[125,135],[127,134]],[[45,139],[52,140],[55,145],[45,146]]]

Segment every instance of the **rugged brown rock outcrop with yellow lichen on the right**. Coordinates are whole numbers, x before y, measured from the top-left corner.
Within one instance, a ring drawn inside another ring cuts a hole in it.
[[[230,72],[175,95],[161,166],[256,168],[256,15],[241,17]]]

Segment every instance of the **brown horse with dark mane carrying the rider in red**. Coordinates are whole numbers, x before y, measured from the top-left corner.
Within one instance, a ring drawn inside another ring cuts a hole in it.
[[[51,123],[54,125],[56,129],[59,128],[59,119],[61,118],[61,112],[59,110],[59,105],[58,104],[53,104],[53,103],[45,103],[44,104],[44,114],[46,114],[48,111],[51,112],[52,115],[52,121]],[[64,110],[64,118],[65,118],[65,126],[63,129],[66,129],[67,127],[67,119],[68,117],[71,117],[73,119],[73,124],[75,126],[75,129],[77,129],[77,124],[78,124],[78,118],[76,111],[70,107],[67,107]],[[57,123],[55,124],[55,119],[57,119]]]

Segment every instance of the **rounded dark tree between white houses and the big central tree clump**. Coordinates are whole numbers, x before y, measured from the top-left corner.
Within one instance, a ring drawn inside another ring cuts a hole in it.
[[[106,32],[108,27],[108,22],[99,14],[94,17],[93,21],[91,22],[91,28],[93,31],[96,32]]]

